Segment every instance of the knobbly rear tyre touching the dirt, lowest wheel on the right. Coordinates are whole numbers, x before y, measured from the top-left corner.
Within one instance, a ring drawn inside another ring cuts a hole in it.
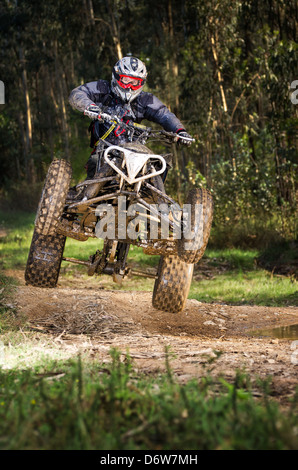
[[[161,256],[154,284],[152,305],[166,312],[183,310],[193,275],[193,265],[178,256]]]

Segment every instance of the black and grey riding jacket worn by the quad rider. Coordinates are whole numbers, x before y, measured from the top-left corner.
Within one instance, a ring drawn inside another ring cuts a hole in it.
[[[87,106],[94,103],[98,106],[108,106],[116,108],[124,106],[120,98],[115,96],[111,90],[110,83],[106,80],[89,82],[81,85],[70,93],[69,102],[74,109],[84,111]],[[160,124],[166,131],[177,132],[185,130],[183,124],[156,96],[152,93],[142,91],[131,103],[131,114],[127,114],[127,119],[140,123],[143,119]],[[103,135],[106,130],[106,124],[97,126],[99,135]],[[119,137],[114,133],[113,138],[109,136],[109,141],[118,140]],[[115,139],[116,137],[116,139]],[[124,138],[124,136],[122,137]],[[122,139],[121,139],[122,140]],[[114,143],[112,142],[112,143]]]

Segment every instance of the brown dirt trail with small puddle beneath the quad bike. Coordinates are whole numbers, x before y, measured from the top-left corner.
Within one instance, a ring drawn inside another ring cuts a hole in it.
[[[25,286],[22,272],[8,273],[20,285],[17,306],[37,331],[54,335],[62,347],[75,344],[98,361],[109,350],[129,350],[135,366],[147,373],[164,370],[165,346],[181,381],[206,374],[231,379],[237,369],[253,376],[272,376],[273,394],[281,401],[294,393],[298,350],[291,339],[251,336],[259,328],[298,323],[294,307],[228,306],[189,299],[180,314],[152,307],[150,292],[95,288],[88,279],[64,280],[56,289]],[[99,280],[100,285],[100,280]],[[221,355],[210,365],[208,360]],[[296,354],[297,353],[297,354]]]

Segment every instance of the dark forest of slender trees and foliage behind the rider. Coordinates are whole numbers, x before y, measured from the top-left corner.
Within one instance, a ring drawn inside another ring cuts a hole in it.
[[[167,189],[212,191],[210,243],[295,240],[297,17],[295,0],[3,0],[1,207],[34,211],[54,157],[85,177],[89,122],[68,96],[132,55],[196,139],[172,148]]]

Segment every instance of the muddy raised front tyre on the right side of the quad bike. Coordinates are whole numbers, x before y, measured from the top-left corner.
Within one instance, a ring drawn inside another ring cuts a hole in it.
[[[192,189],[186,200],[189,204],[188,233],[178,240],[178,256],[185,263],[195,264],[202,258],[210,236],[213,218],[213,201],[205,188]],[[192,235],[192,237],[191,237]]]

